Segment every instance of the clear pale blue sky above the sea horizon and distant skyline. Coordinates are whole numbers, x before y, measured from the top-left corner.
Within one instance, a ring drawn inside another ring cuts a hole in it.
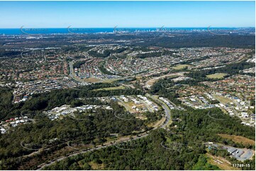
[[[255,1],[0,1],[0,28],[255,27]]]

